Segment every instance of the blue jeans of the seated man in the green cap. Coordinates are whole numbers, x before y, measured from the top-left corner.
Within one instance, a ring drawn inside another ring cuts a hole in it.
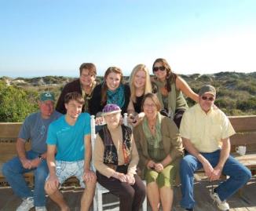
[[[34,159],[38,157],[38,153],[35,151],[27,151],[26,156],[28,159]],[[23,176],[24,173],[31,171],[34,171],[35,176],[34,195],[31,188],[27,187]],[[35,206],[46,206],[44,186],[48,172],[46,160],[43,160],[35,169],[24,169],[18,157],[9,160],[9,162],[5,162],[2,166],[2,173],[13,188],[14,193],[20,198],[34,197]]]

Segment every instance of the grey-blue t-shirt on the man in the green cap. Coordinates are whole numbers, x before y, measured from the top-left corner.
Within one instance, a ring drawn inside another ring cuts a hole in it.
[[[61,114],[57,111],[48,119],[41,117],[41,112],[33,113],[25,118],[20,129],[19,138],[31,141],[31,150],[39,154],[45,153],[47,149],[46,137],[49,124],[59,118]]]

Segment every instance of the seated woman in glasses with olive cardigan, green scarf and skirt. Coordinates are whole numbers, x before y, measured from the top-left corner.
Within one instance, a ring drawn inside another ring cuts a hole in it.
[[[133,129],[140,155],[141,176],[147,182],[148,200],[153,211],[170,211],[174,179],[183,155],[181,136],[174,121],[160,115],[155,94],[147,93],[142,100],[144,119]]]

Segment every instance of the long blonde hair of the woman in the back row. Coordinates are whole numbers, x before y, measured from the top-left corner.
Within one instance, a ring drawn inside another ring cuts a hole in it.
[[[137,74],[138,71],[144,71],[144,73],[146,74],[146,80],[145,80],[145,85],[144,85],[144,95],[146,93],[152,93],[152,85],[151,85],[151,81],[150,81],[150,75],[149,75],[149,71],[148,71],[148,67],[146,67],[146,65],[144,64],[138,64],[133,68],[132,73],[130,74],[130,78],[129,78],[129,84],[130,84],[130,99],[136,103],[136,87],[134,85],[134,78],[135,75]]]

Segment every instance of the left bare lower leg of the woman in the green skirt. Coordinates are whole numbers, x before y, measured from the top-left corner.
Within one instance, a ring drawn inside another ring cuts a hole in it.
[[[159,187],[155,182],[147,185],[148,201],[152,211],[158,211],[160,207]]]

